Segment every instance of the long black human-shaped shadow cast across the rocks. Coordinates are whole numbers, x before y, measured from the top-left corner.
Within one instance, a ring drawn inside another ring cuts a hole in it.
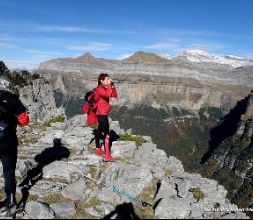
[[[43,177],[43,168],[57,160],[69,158],[69,150],[62,146],[61,139],[53,140],[53,147],[46,148],[42,153],[35,156],[37,166],[27,171],[26,178],[19,184],[21,187],[22,199],[17,207],[23,210],[29,197],[29,190]]]

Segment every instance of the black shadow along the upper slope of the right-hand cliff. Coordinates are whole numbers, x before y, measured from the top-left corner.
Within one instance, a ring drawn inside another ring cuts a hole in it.
[[[202,157],[201,164],[208,161],[215,149],[224,140],[236,133],[241,116],[247,111],[249,99],[250,96],[237,102],[236,106],[223,118],[222,123],[210,131],[211,140],[209,141],[209,150]]]

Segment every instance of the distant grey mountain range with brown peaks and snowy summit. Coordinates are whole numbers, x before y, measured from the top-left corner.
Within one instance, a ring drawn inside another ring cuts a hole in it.
[[[39,70],[61,74],[151,75],[192,78],[233,85],[253,85],[253,61],[235,56],[212,56],[204,51],[188,50],[176,57],[136,52],[123,60],[96,58],[89,53],[77,58],[57,58],[43,62]]]

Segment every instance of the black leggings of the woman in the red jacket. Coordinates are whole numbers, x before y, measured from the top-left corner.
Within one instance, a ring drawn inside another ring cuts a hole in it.
[[[100,148],[100,140],[110,134],[109,120],[107,115],[98,115],[98,130],[95,130],[96,147]]]

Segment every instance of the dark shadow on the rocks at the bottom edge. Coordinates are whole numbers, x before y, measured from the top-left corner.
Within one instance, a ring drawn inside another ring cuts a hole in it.
[[[114,211],[106,215],[103,219],[141,219],[136,215],[132,203],[123,203],[118,205]]]

